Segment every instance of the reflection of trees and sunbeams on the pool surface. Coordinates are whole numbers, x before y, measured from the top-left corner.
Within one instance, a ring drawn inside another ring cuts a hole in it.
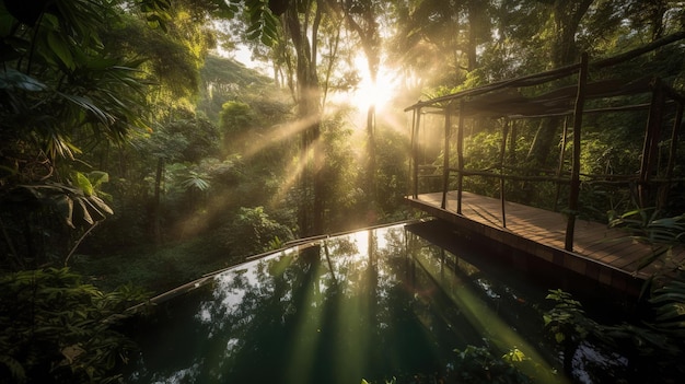
[[[473,341],[474,333],[438,281],[417,268],[416,255],[434,251],[402,228],[364,235],[218,276],[209,299],[186,299],[200,302],[188,306],[193,321],[169,334],[183,342],[177,354],[160,365],[147,361],[148,369],[195,382],[265,383],[350,383],[438,369],[441,353],[465,346],[455,335]]]

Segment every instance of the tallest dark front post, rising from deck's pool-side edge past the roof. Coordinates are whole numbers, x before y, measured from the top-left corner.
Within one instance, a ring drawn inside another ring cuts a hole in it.
[[[573,163],[571,166],[571,190],[569,194],[569,212],[566,223],[566,251],[573,251],[573,232],[576,231],[576,216],[578,216],[578,198],[580,196],[580,130],[583,123],[583,107],[585,104],[585,85],[588,83],[588,54],[580,58],[578,72],[578,94],[573,109]]]

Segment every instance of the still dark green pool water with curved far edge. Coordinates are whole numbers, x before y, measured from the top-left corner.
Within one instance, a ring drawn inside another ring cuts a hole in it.
[[[294,245],[187,286],[137,321],[126,381],[432,383],[471,345],[520,351],[533,382],[567,382],[544,337],[546,290],[503,283],[413,225]]]

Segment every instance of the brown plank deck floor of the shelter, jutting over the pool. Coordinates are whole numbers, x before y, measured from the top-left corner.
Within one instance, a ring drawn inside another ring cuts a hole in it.
[[[567,219],[559,212],[506,202],[504,228],[499,199],[463,193],[462,214],[456,213],[456,191],[448,194],[446,209],[441,208],[442,193],[407,200],[432,217],[614,288],[635,286],[634,280],[645,279],[660,268],[654,264],[637,271],[640,260],[652,254],[651,247],[631,242],[625,232],[606,224],[577,220],[573,252],[568,252],[564,249]],[[682,259],[685,252],[680,249],[676,256]]]

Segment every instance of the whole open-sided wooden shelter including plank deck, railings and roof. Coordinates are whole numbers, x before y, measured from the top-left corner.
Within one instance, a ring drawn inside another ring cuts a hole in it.
[[[609,229],[606,223],[580,220],[584,209],[581,190],[592,194],[595,186],[602,186],[603,194],[620,190],[641,208],[662,209],[670,199],[682,199],[684,191],[678,188],[685,177],[677,174],[675,164],[684,160],[677,147],[685,97],[653,78],[589,80],[591,69],[613,63],[605,60],[590,65],[583,56],[578,65],[419,102],[406,108],[413,113],[411,190],[407,201],[432,217],[606,286],[625,289],[631,281],[650,276],[659,265],[641,270],[638,266],[653,255],[654,249],[630,242],[626,232]],[[572,82],[576,85],[569,85]],[[587,107],[589,105],[592,108]],[[581,139],[583,117],[622,113],[646,115],[641,119],[647,126],[643,137],[639,138],[642,142],[639,168],[620,175],[581,173],[585,150]],[[534,119],[562,121],[556,170],[514,166],[515,123]],[[468,146],[477,147],[474,133],[488,124],[501,129],[498,159],[485,168],[468,168],[465,138],[471,135]],[[499,198],[466,191],[465,185],[473,178],[499,189],[495,195]],[[554,201],[554,207],[539,209],[508,200],[521,185],[529,190],[556,189],[556,196],[546,197]],[[685,252],[677,248],[670,261],[683,259]]]

